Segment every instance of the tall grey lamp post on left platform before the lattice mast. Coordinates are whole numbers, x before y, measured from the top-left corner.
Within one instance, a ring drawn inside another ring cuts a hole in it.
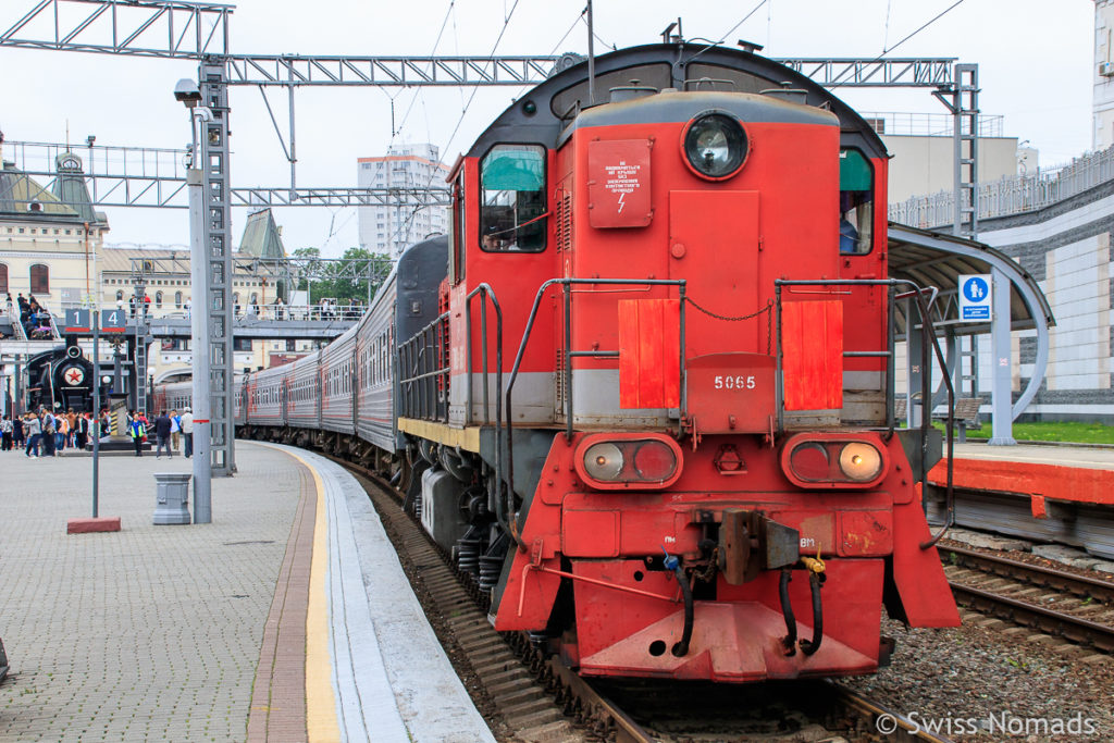
[[[205,255],[205,195],[202,184],[203,174],[196,167],[197,158],[197,119],[212,120],[213,113],[201,106],[202,94],[197,84],[188,78],[178,80],[174,86],[174,97],[180,100],[189,111],[189,135],[192,147],[189,164],[186,170],[186,185],[189,192],[189,277],[193,284],[192,295],[199,301],[192,302],[189,314],[190,343],[193,353],[193,401],[194,401],[194,524],[213,521],[213,454],[211,393],[209,393],[209,323],[213,307],[209,305],[208,262]]]

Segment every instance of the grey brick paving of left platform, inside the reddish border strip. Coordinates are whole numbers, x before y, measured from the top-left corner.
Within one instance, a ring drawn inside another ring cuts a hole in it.
[[[91,458],[0,453],[0,740],[244,740],[303,479],[262,447],[236,463],[212,524],[155,526],[155,472],[192,461],[104,458],[99,514],[121,530],[67,535],[91,514]]]

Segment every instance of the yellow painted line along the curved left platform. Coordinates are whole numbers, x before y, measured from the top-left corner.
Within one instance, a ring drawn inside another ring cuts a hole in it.
[[[313,473],[317,489],[317,508],[313,521],[313,560],[310,564],[310,605],[305,613],[305,732],[310,743],[340,741],[336,715],[336,692],[329,654],[329,602],[325,596],[325,574],[329,570],[329,515],[325,509],[325,487],[315,467],[297,454],[286,451]]]

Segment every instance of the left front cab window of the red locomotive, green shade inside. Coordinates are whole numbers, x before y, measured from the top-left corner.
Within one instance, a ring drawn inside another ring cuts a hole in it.
[[[546,149],[496,145],[480,164],[480,248],[488,253],[546,250]]]

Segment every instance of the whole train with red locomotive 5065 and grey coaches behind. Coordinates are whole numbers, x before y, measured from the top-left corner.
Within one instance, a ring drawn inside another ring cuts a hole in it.
[[[593,100],[594,84],[600,100]],[[893,421],[886,149],[795,71],[654,45],[559,71],[452,168],[451,234],[237,387],[241,436],[395,479],[580,673],[869,673],[958,615]]]

